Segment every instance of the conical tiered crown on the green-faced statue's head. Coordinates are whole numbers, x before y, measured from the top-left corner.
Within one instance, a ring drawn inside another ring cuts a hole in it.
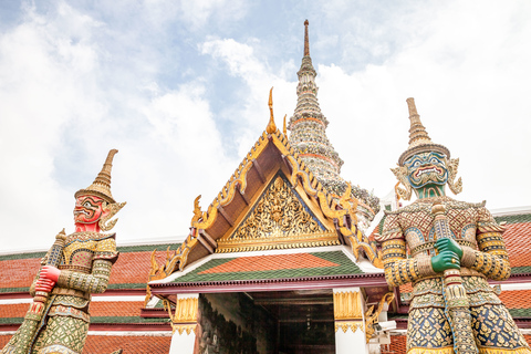
[[[417,113],[415,100],[409,97],[406,100],[406,102],[407,107],[409,108],[409,146],[407,150],[402,153],[400,157],[398,158],[398,165],[404,165],[404,162],[413,155],[427,152],[436,152],[446,155],[447,158],[450,158],[450,150],[446,146],[435,144],[429,138],[428,132],[426,132],[426,128],[420,122],[420,116]]]

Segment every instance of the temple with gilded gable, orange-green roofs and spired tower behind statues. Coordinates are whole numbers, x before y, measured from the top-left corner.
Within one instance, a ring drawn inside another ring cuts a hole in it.
[[[397,202],[341,176],[317,101],[308,20],[296,74],[289,122],[278,128],[271,91],[262,134],[217,197],[205,209],[200,197],[188,201],[183,243],[117,239],[121,254],[106,293],[93,296],[83,353],[406,353],[414,291],[388,283],[375,242]],[[490,284],[529,342],[531,208],[493,217],[506,227],[512,274]],[[13,272],[0,272],[0,348],[23,322],[44,256],[0,254],[0,269]]]

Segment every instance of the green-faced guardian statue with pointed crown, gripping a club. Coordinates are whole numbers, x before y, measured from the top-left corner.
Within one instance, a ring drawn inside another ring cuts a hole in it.
[[[462,189],[459,160],[429,138],[413,98],[409,146],[393,173],[405,187],[398,195],[417,200],[388,211],[377,241],[389,285],[413,283],[407,329],[408,354],[531,353],[488,279],[504,280],[510,264],[504,227],[482,204],[446,196]],[[406,250],[409,250],[409,257]]]

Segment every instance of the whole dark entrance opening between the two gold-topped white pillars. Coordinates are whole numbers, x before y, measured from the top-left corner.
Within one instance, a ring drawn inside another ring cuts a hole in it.
[[[335,353],[332,290],[201,294],[198,323],[198,354]]]

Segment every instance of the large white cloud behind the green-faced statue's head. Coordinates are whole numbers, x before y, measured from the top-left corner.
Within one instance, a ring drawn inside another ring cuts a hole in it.
[[[465,192],[458,199],[529,205],[531,50],[522,45],[531,40],[522,21],[529,10],[521,2],[420,8],[410,17],[429,12],[426,27],[383,64],[352,74],[321,65],[321,102],[332,122],[329,137],[345,159],[343,176],[379,196],[393,188],[387,167],[407,146],[405,98],[414,96],[433,140],[460,157]]]

